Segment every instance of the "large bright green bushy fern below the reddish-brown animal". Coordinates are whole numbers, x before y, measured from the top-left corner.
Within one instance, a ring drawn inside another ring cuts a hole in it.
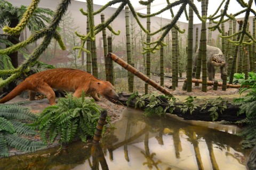
[[[84,93],[81,98],[68,94],[67,98],[60,98],[57,105],[46,107],[31,126],[40,130],[44,142],[52,143],[59,135],[60,143],[69,143],[77,134],[86,141],[94,135],[101,111],[93,99],[85,99]]]

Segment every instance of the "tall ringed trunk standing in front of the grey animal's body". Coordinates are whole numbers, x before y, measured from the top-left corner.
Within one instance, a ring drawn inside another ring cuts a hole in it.
[[[202,16],[207,16],[207,0],[202,0]],[[200,44],[202,45],[202,91],[207,92],[207,66],[206,66],[206,21],[202,22]],[[200,53],[200,52],[199,52]]]

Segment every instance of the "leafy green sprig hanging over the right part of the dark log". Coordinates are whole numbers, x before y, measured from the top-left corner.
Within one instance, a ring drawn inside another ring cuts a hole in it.
[[[221,97],[207,99],[205,105],[202,106],[201,111],[207,108],[209,108],[208,111],[211,112],[210,116],[212,117],[212,121],[215,121],[218,119],[219,113],[222,114],[222,112],[227,108],[227,100],[223,100]]]

